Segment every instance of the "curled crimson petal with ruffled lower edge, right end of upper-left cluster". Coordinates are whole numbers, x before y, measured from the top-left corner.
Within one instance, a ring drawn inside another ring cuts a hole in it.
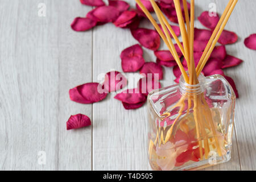
[[[117,18],[117,20],[115,20],[114,25],[116,27],[124,28],[128,24],[133,22],[133,19],[136,15],[137,13],[135,13],[134,11],[123,11],[123,13]]]

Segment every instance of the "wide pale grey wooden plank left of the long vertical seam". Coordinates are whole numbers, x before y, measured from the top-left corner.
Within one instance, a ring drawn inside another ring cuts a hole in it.
[[[90,105],[69,100],[68,90],[92,81],[92,32],[73,32],[84,16],[80,2],[1,1],[0,168],[14,170],[91,169],[91,128],[66,131],[71,114]],[[38,152],[46,152],[46,165]]]

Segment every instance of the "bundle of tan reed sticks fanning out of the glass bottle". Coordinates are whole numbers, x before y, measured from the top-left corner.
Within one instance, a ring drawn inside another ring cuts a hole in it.
[[[151,14],[146,9],[146,7],[144,7],[143,3],[140,0],[135,0],[135,1],[139,5],[139,7],[141,7],[144,14],[146,14],[146,16],[150,20],[150,22],[153,24],[156,31],[158,32],[160,37],[163,39],[163,41],[167,45],[168,49],[170,50],[172,56],[174,56],[175,61],[176,61],[177,65],[179,66],[179,69],[181,71],[181,74],[182,74],[185,82],[187,82],[187,84],[189,84],[189,85],[198,84],[199,83],[198,77],[199,77],[201,71],[203,70],[205,64],[207,63],[210,55],[212,54],[212,51],[213,51],[214,47],[216,46],[218,39],[220,38],[222,32],[224,31],[224,28],[225,28],[226,24],[228,23],[230,15],[232,14],[234,7],[236,6],[238,0],[230,0],[229,1],[228,5],[225,8],[224,13],[222,14],[222,16],[220,18],[220,21],[218,22],[216,28],[214,29],[214,31],[212,33],[212,36],[209,39],[207,47],[205,48],[197,67],[195,67],[194,54],[193,54],[193,52],[194,52],[193,42],[194,42],[194,23],[195,23],[195,1],[191,0],[191,12],[190,12],[191,16],[189,18],[187,1],[183,0],[183,6],[184,6],[184,11],[185,11],[185,22],[184,22],[183,14],[181,11],[180,0],[174,0],[177,19],[178,19],[180,30],[181,30],[181,37],[183,40],[183,46],[180,43],[179,39],[177,38],[174,30],[172,30],[172,27],[168,23],[167,18],[164,16],[164,14],[159,9],[158,5],[156,4],[156,2],[154,0],[150,0],[150,2],[151,2],[152,7],[154,8],[155,14],[158,17],[158,20],[160,22],[160,25],[161,25],[163,31],[158,26],[158,23],[156,23],[155,19],[151,16]],[[174,38],[175,42],[177,43],[177,46],[180,48],[185,60],[187,61],[188,74],[187,74],[187,72],[185,72],[185,69],[184,69],[183,65],[181,64],[181,60],[177,54],[174,43],[172,42],[172,38],[168,31],[170,31],[172,37]],[[201,138],[201,140],[199,140],[200,158],[203,159],[203,150],[202,150],[203,144],[204,144],[204,148],[205,148],[205,158],[206,159],[208,158],[208,154],[209,154],[209,143],[208,143],[207,134],[205,131],[205,129],[207,129],[207,128],[215,136],[214,140],[216,142],[218,155],[221,156],[222,155],[221,148],[220,148],[220,144],[218,143],[218,139],[216,137],[217,134],[216,134],[216,129],[215,129],[213,119],[212,119],[212,113],[210,111],[210,108],[209,108],[207,102],[204,99],[204,94],[201,94],[200,96],[197,96],[197,95],[192,96],[192,95],[188,94],[187,96],[182,97],[180,99],[180,101],[177,102],[177,104],[175,105],[175,107],[180,107],[179,116],[175,119],[175,121],[172,124],[172,126],[170,127],[170,129],[168,129],[165,139],[163,138],[163,133],[162,133],[163,131],[162,130],[160,131],[160,129],[159,129],[158,133],[159,133],[160,137],[157,136],[156,140],[158,140],[159,144],[161,144],[161,143],[164,144],[170,139],[174,125],[179,120],[181,114],[183,113],[185,99],[188,100],[188,110],[192,106],[191,102],[193,102],[193,115],[194,115],[195,124],[196,124],[196,134],[197,134],[198,139]],[[166,113],[164,113],[163,115],[167,115],[167,117],[168,117],[168,111]],[[207,120],[207,122],[205,122],[204,120]],[[156,141],[155,141],[155,143],[156,143]]]

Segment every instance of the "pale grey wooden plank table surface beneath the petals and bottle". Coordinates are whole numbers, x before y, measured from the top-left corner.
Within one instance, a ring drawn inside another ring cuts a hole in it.
[[[135,5],[133,0],[127,2]],[[197,0],[196,16],[209,10],[211,2],[221,14],[228,0]],[[39,3],[45,3],[46,17],[38,16]],[[146,105],[127,111],[113,98],[115,94],[82,105],[72,102],[68,94],[77,85],[101,81],[102,73],[122,71],[121,51],[137,43],[130,31],[111,23],[72,31],[73,19],[92,9],[79,0],[0,0],[0,5],[0,169],[150,169]],[[238,43],[226,46],[228,53],[245,61],[225,71],[240,92],[233,154],[230,162],[207,170],[256,169],[256,51],[243,44],[256,32],[255,9],[255,0],[239,1],[226,26],[239,36]],[[144,20],[142,27],[151,26]],[[198,21],[196,27],[203,28]],[[144,57],[155,61],[145,48]],[[164,71],[162,85],[174,84],[172,68]],[[130,88],[138,75],[129,80]],[[78,113],[88,115],[92,126],[67,131],[69,116]],[[39,161],[43,155],[46,164]]]

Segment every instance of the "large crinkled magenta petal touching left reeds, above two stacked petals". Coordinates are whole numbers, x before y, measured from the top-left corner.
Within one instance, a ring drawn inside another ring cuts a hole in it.
[[[142,46],[148,49],[156,51],[160,46],[160,36],[155,30],[137,28],[131,30],[131,34]]]

